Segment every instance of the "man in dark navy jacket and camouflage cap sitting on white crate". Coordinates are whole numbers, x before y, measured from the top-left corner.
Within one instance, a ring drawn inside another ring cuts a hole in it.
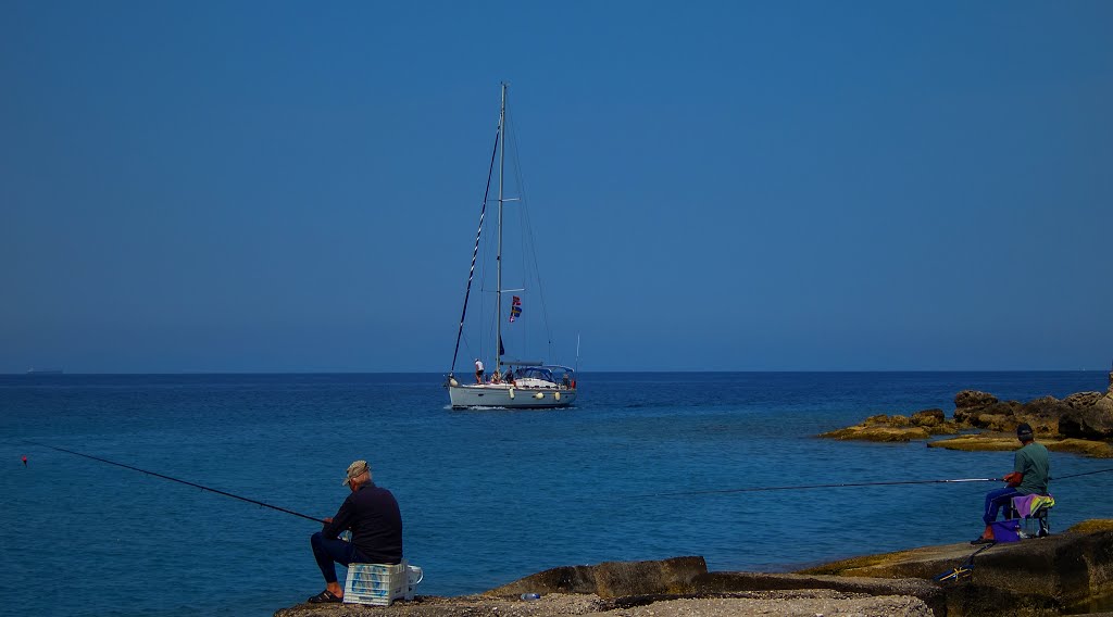
[[[344,566],[402,563],[402,515],[394,495],[371,481],[366,460],[348,466],[344,486],[352,494],[341,504],[336,516],[325,519],[325,528],[311,538],[313,557],[325,577],[325,590],[308,599],[313,604],[338,603],[344,598],[334,561]],[[352,541],[339,539],[344,530],[352,531]]]

